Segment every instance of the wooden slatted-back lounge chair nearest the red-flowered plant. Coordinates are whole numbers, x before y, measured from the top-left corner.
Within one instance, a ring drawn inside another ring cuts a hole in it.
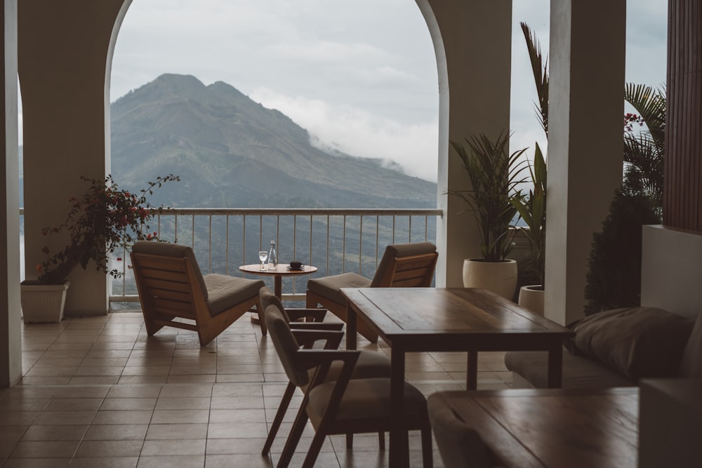
[[[258,291],[265,286],[263,281],[202,276],[188,246],[139,241],[131,261],[149,336],[164,326],[183,328],[197,332],[204,346],[254,305],[261,310]],[[263,321],[261,330],[265,335]]]

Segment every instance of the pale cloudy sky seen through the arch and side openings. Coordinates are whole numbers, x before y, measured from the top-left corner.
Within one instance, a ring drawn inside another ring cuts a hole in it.
[[[548,51],[549,0],[514,0],[513,145],[541,139],[519,22]],[[628,0],[628,81],[665,82],[665,0]],[[411,0],[133,0],[110,99],[163,73],[230,83],[307,128],[319,145],[388,159],[436,180],[434,48]],[[429,162],[428,162],[429,161]]]

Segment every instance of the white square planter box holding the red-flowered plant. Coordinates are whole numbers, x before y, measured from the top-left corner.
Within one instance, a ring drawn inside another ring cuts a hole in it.
[[[70,281],[63,284],[22,281],[22,318],[25,323],[62,321],[70,284]]]

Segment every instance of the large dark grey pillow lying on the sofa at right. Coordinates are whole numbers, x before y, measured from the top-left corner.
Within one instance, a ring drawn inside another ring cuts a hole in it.
[[[597,359],[630,380],[677,375],[694,321],[655,307],[599,312],[572,323],[566,347]]]

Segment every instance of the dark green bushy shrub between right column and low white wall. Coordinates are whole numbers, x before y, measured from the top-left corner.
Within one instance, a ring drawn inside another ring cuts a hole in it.
[[[657,222],[649,197],[616,192],[602,232],[592,235],[585,314],[640,305],[641,227]]]

